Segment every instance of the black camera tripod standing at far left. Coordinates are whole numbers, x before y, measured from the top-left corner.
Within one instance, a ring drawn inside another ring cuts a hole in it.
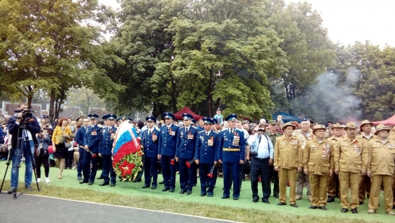
[[[16,121],[16,120],[12,120],[11,122]],[[16,143],[16,148],[11,149],[11,151],[9,151],[8,153],[8,159],[7,159],[7,167],[5,169],[5,173],[4,173],[4,177],[3,180],[1,182],[1,187],[0,187],[0,193],[2,191],[3,185],[4,185],[4,180],[5,180],[5,176],[7,175],[7,171],[8,171],[8,167],[11,163],[11,159],[12,157],[14,158],[13,162],[16,162],[16,183],[18,183],[19,180],[19,168],[21,167],[21,159],[22,159],[22,154],[23,154],[23,147],[24,147],[24,143],[26,143],[26,148],[27,148],[27,156],[25,157],[25,159],[30,159],[32,162],[32,172],[34,173],[35,179],[36,179],[36,184],[37,184],[37,190],[40,191],[40,186],[39,186],[39,182],[37,182],[37,175],[36,175],[36,161],[33,157],[32,154],[32,148],[30,146],[29,143],[29,137],[27,135],[27,129],[26,126],[23,122],[20,123],[19,128],[18,128],[18,138],[17,138],[17,143]],[[35,149],[35,148],[34,148]],[[14,165],[14,164],[13,164]],[[12,175],[12,173],[11,173]],[[26,179],[25,179],[26,180]],[[17,189],[18,187],[15,187],[15,191],[13,193],[13,199],[17,199],[18,196],[22,193],[17,193]]]

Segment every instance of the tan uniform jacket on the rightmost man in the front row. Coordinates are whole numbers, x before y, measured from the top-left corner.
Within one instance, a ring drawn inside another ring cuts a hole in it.
[[[373,175],[395,174],[395,140],[388,139],[384,144],[379,137],[368,143],[369,159],[367,170]]]

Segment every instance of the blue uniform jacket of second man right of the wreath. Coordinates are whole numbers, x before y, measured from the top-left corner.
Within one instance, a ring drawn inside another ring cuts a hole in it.
[[[160,127],[159,151],[162,156],[174,156],[176,154],[178,126],[171,124],[170,129],[166,125]]]

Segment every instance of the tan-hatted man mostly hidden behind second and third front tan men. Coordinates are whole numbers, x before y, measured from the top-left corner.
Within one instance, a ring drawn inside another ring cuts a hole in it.
[[[336,123],[335,125],[331,125],[331,132],[332,136],[328,138],[330,142],[332,142],[333,146],[337,144],[337,141],[339,138],[341,138],[342,132],[343,132],[343,127],[339,124]],[[336,191],[337,188],[337,191]],[[327,202],[333,202],[335,201],[335,197],[339,197],[340,195],[340,183],[339,183],[339,176],[336,174],[332,174],[332,176],[328,177],[328,200]]]

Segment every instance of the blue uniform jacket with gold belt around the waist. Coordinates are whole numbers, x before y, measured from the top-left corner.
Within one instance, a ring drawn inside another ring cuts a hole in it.
[[[225,151],[224,149],[239,149],[239,151]],[[233,128],[233,132],[230,134],[229,129],[223,130],[219,136],[218,160],[236,163],[245,159],[244,154],[245,139],[243,131]]]

